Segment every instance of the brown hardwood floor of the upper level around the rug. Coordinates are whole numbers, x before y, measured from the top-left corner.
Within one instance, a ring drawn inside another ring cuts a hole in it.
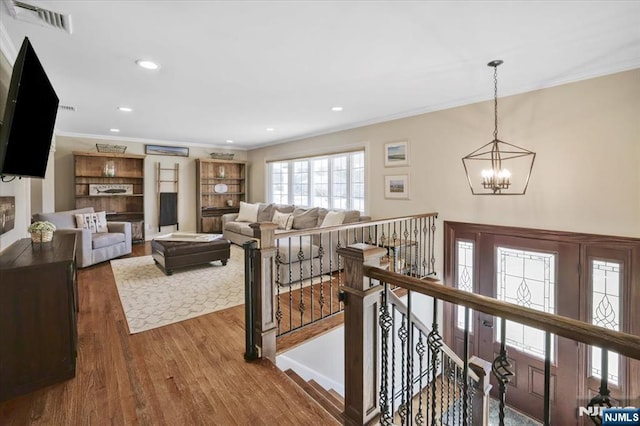
[[[244,361],[243,306],[129,335],[109,262],[78,286],[76,377],[0,403],[1,425],[338,424],[270,362]]]

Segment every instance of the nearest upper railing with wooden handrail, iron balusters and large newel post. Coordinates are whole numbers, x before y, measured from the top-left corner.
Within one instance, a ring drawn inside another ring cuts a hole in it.
[[[424,351],[428,353],[427,357],[431,357],[431,362],[434,359],[436,362],[442,359],[439,358],[443,347],[442,337],[437,329],[438,306],[442,301],[464,306],[465,325],[468,325],[469,310],[474,309],[500,317],[503,322],[502,330],[506,328],[504,323],[506,320],[544,330],[547,348],[550,347],[551,333],[576,342],[598,346],[603,349],[602,371],[604,372],[607,371],[606,354],[608,351],[615,351],[622,356],[640,360],[640,337],[638,336],[446,287],[433,279],[419,279],[387,271],[379,267],[380,258],[385,254],[385,251],[380,247],[355,244],[340,249],[339,252],[343,257],[346,277],[343,287],[346,293],[344,313],[346,424],[364,425],[373,421],[379,421],[381,424],[394,423],[394,410],[389,408],[391,403],[389,395],[391,394],[388,373],[389,369],[393,368],[393,359],[391,358],[390,361],[390,358],[385,356],[385,353],[389,352],[389,330],[391,329],[389,323],[393,321],[387,311],[391,285],[408,291],[407,313],[405,315],[409,318],[413,314],[413,294],[422,294],[433,298],[434,326],[427,335],[427,343],[423,343]],[[415,334],[412,329],[407,329],[403,334],[406,336],[403,338],[403,343],[406,342],[406,354],[412,353],[413,348],[419,346],[419,344],[414,345]],[[381,340],[380,343],[379,340]],[[417,341],[420,342],[420,336]],[[378,352],[375,350],[378,345],[382,347],[381,359],[378,359]],[[460,375],[462,378],[461,406],[454,406],[447,412],[458,416],[452,422],[453,424],[486,424],[486,411],[479,413],[477,407],[473,406],[473,400],[470,396],[474,392],[473,386],[469,380],[465,379],[469,376],[469,370],[476,371],[469,358],[469,330],[467,327],[465,327],[463,345],[463,367]],[[545,354],[544,412],[541,416],[545,425],[551,424],[549,410],[551,400],[550,352],[547,349]],[[415,360],[409,357],[403,357],[403,359],[402,362],[405,362],[408,365],[407,369],[410,370]],[[505,419],[506,384],[509,382],[510,376],[513,375],[510,368],[503,333],[500,353],[492,363],[492,373],[499,382],[500,425],[504,425]],[[486,366],[484,371],[486,371]],[[442,365],[440,374],[443,375],[445,372],[446,366]],[[432,375],[438,374],[436,368],[432,368],[430,373]],[[458,373],[454,373],[454,376],[457,375]],[[603,373],[600,393],[592,398],[590,406],[611,406],[607,381],[608,375]],[[446,392],[443,392],[442,395],[444,395],[443,398],[447,398]],[[438,395],[432,393],[432,396]],[[433,406],[430,410],[431,417],[425,419],[424,412],[419,407],[415,408],[413,390],[411,390],[411,394],[407,394],[405,401],[411,401],[411,403],[406,402],[400,410],[402,424],[425,424],[425,420],[428,420],[429,424],[435,425],[446,420],[446,417],[443,420],[443,413],[437,413]],[[433,401],[435,398],[431,401],[432,404]],[[446,416],[446,413],[444,415]],[[594,420],[597,422],[598,419]]]

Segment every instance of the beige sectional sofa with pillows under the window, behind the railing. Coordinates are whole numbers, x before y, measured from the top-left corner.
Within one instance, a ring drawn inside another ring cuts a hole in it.
[[[292,231],[301,229],[319,228],[330,211],[324,208],[296,208],[292,205],[275,205],[260,203],[257,222],[270,222],[274,213],[293,214]],[[336,210],[334,210],[336,211]],[[345,210],[342,224],[366,222],[371,220],[369,216],[363,216],[358,210]],[[238,222],[238,213],[229,213],[222,216],[223,238],[242,245],[253,238],[253,230],[249,226],[251,222]],[[289,232],[277,229],[278,234]],[[300,282],[301,279],[317,277],[320,274],[337,271],[339,269],[336,249],[338,244],[344,247],[353,242],[361,242],[361,235],[353,231],[347,235],[346,231],[323,232],[316,235],[294,236],[290,238],[277,238],[279,268],[276,271],[276,281],[280,285],[290,285]],[[322,262],[320,260],[320,247],[322,247]],[[300,253],[302,256],[300,257]]]

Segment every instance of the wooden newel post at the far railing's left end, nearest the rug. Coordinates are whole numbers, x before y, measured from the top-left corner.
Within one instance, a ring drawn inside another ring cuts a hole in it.
[[[275,364],[276,362],[276,315],[275,292],[273,281],[275,223],[259,222],[249,225],[253,229],[254,238],[260,241],[253,259],[253,301],[254,323],[256,328],[256,345],[260,348],[262,358]]]

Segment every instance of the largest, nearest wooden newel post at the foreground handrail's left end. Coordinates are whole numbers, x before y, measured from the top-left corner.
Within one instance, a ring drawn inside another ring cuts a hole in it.
[[[344,265],[344,416],[347,425],[364,425],[380,413],[378,398],[379,288],[371,289],[363,266],[380,264],[381,247],[353,244],[338,250]],[[376,286],[377,287],[377,286]]]

